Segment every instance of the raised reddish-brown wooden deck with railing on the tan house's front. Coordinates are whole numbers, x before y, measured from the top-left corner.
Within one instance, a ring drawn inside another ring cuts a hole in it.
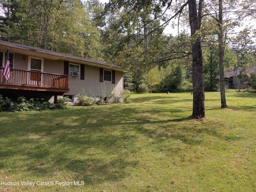
[[[69,92],[68,76],[36,71],[10,69],[10,79],[5,80],[0,67],[0,89]]]

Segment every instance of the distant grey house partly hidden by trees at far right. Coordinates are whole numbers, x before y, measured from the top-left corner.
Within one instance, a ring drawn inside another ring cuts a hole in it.
[[[246,73],[250,74],[252,71],[256,71],[256,66],[246,69]],[[225,87],[230,88],[246,88],[244,84],[246,80],[240,79],[240,70],[225,72]]]

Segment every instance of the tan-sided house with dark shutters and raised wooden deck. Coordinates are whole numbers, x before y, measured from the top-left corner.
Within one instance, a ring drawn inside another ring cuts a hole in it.
[[[8,48],[10,79],[6,81],[3,69]],[[4,97],[56,102],[57,96],[68,96],[75,102],[84,91],[96,98],[122,98],[124,72],[102,61],[0,40],[0,94]]]

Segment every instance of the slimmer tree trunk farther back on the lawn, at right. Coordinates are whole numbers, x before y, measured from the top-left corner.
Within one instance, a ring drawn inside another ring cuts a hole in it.
[[[225,76],[224,76],[224,33],[222,26],[222,15],[223,7],[222,0],[219,0],[219,17],[218,17],[218,43],[219,43],[219,63],[220,63],[220,100],[221,100],[221,108],[228,108],[226,104],[226,95],[225,95]]]

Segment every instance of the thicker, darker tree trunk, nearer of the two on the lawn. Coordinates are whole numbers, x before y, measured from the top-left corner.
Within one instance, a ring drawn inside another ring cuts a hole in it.
[[[200,29],[202,0],[199,2],[197,13],[196,0],[188,0],[189,22],[191,36],[195,38],[192,44],[192,73],[193,73],[193,118],[203,118],[204,113],[204,79],[203,79],[203,56],[200,43],[200,35],[195,34]]]

